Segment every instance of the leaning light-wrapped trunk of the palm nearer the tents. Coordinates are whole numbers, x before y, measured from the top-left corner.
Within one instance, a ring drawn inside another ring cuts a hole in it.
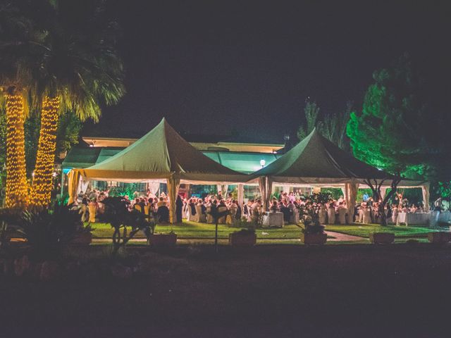
[[[59,104],[59,96],[45,96],[42,100],[41,130],[39,132],[36,166],[31,189],[31,204],[37,208],[50,204],[55,166]]]

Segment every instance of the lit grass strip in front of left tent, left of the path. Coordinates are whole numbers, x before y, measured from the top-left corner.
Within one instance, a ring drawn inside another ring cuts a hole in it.
[[[109,238],[113,231],[111,226],[106,223],[93,223],[94,238]],[[228,234],[240,230],[240,227],[228,227],[226,225],[218,225],[218,237],[228,238]],[[178,238],[214,238],[215,226],[208,223],[196,223],[184,221],[181,225],[157,225],[155,232],[175,232]],[[301,228],[297,225],[285,225],[282,228],[258,229],[257,238],[259,239],[298,239]],[[137,234],[137,238],[142,238],[143,234]]]

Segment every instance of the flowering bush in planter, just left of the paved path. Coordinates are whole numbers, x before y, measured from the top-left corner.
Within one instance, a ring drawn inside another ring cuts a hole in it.
[[[301,232],[301,242],[307,245],[323,245],[327,241],[324,225],[319,224],[319,208],[329,200],[327,194],[312,194],[309,199],[299,205],[299,216],[302,218],[304,228]]]

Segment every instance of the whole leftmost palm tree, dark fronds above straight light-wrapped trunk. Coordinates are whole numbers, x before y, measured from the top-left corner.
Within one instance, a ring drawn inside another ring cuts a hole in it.
[[[27,93],[35,63],[35,35],[30,20],[16,6],[0,5],[0,96],[6,111],[6,207],[27,204],[24,122]],[[3,106],[3,105],[2,105]]]

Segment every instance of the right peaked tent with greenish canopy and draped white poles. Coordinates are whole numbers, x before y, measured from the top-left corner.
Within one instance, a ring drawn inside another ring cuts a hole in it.
[[[252,174],[249,182],[259,183],[265,206],[268,205],[273,185],[338,187],[343,191],[350,213],[354,210],[359,187],[368,187],[367,180],[382,183],[383,193],[394,178],[347,154],[314,129],[286,154]],[[428,182],[402,180],[397,187],[421,187],[424,206],[428,210]]]

